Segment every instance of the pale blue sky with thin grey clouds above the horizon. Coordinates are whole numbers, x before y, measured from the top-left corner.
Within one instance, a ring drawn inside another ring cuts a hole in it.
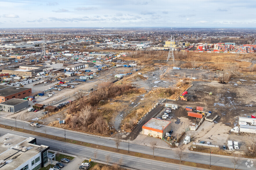
[[[255,0],[0,0],[0,27],[256,27]]]

